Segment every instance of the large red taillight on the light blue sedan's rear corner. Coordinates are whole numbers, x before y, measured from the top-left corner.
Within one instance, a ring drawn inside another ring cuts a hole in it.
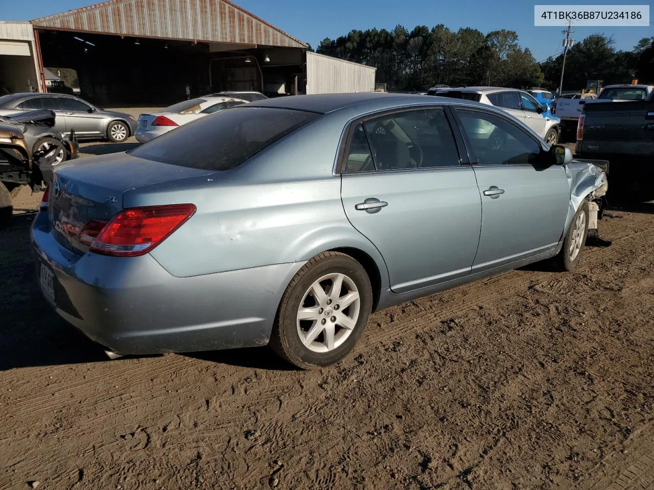
[[[163,242],[195,212],[193,204],[122,210],[97,233],[90,251],[120,257],[143,255]]]

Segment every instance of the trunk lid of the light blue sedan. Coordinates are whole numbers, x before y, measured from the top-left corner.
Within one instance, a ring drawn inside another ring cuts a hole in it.
[[[92,220],[109,221],[123,209],[124,193],[161,182],[196,178],[212,171],[189,169],[112,154],[60,164],[52,180],[48,216],[56,240],[68,250],[86,253],[79,240]]]

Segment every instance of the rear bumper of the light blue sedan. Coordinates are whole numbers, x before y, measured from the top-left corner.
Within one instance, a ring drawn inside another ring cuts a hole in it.
[[[151,255],[107,257],[70,252],[40,212],[31,239],[37,276],[54,275],[61,317],[121,355],[188,352],[267,344],[283,291],[301,263],[171,276]]]

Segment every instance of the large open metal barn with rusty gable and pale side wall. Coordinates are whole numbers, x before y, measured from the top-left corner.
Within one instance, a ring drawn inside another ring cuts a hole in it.
[[[82,97],[101,106],[168,105],[221,90],[278,96],[375,87],[373,67],[307,52],[228,0],[111,0],[30,24],[33,88],[46,90],[46,67],[75,69]],[[11,90],[23,91],[26,77],[14,78]]]

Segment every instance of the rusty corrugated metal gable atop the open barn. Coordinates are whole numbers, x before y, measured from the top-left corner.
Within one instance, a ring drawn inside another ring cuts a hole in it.
[[[228,0],[110,0],[35,19],[31,24],[134,37],[306,47]]]

